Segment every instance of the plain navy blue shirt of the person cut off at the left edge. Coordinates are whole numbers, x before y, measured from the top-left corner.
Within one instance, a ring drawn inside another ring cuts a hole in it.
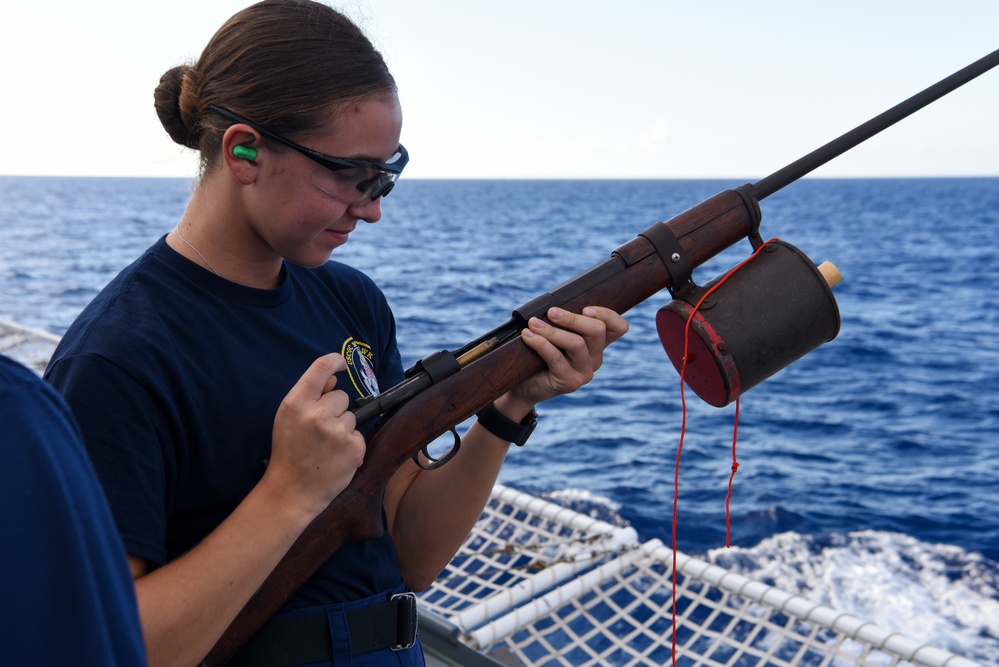
[[[0,355],[0,665],[145,665],[125,549],[66,404]]]

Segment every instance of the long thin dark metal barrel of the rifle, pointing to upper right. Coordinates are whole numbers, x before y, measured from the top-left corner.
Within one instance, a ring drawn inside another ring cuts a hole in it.
[[[753,184],[757,200],[772,195],[785,185],[793,183],[810,171],[821,167],[834,157],[838,157],[854,146],[867,141],[878,132],[891,127],[906,116],[919,111],[947,93],[960,88],[996,65],[999,65],[999,50],[993,51],[980,60],[976,60],[964,69],[954,72],[921,93],[916,93],[909,99],[896,104],[891,109],[875,116],[863,125],[855,127],[843,136],[833,139],[821,148],[815,149],[783,169],[779,169],[766,178],[757,181]]]

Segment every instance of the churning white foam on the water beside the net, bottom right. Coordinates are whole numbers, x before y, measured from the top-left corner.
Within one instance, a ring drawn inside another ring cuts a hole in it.
[[[782,533],[708,560],[972,660],[999,663],[999,565],[899,533]]]

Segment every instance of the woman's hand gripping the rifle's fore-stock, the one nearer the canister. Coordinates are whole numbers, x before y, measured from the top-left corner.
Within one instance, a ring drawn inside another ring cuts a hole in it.
[[[604,349],[628,331],[627,320],[597,306],[587,306],[580,314],[551,308],[548,319],[551,324],[532,317],[521,333],[524,343],[548,364],[508,395],[528,409],[592,380],[603,363]]]

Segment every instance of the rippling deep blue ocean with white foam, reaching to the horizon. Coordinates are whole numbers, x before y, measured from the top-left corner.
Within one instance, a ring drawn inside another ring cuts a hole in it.
[[[743,182],[404,178],[334,258],[381,285],[411,365]],[[176,224],[190,189],[0,177],[0,317],[63,333]],[[677,547],[999,664],[999,179],[804,179],[761,208],[764,239],[842,271],[841,328],[742,397],[728,548],[734,405],[686,392]],[[695,281],[751,250],[736,244]],[[593,382],[540,406],[504,484],[671,543],[683,413],[655,328],[669,299],[630,311]]]

